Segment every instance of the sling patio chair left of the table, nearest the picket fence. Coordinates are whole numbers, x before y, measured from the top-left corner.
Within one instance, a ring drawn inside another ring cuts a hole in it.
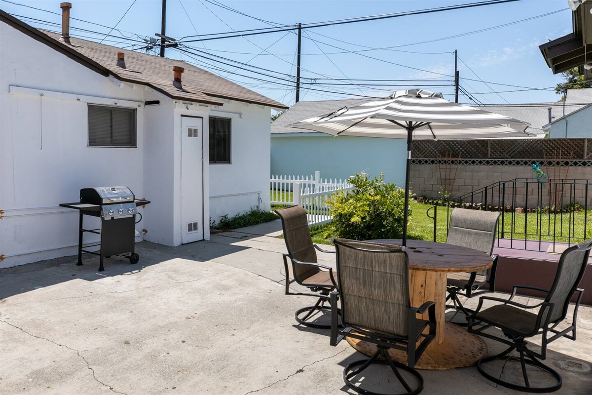
[[[329,294],[336,288],[336,281],[333,277],[333,268],[318,264],[317,253],[334,253],[320,249],[310,237],[308,231],[308,219],[306,211],[300,205],[275,210],[275,213],[282,220],[282,229],[284,230],[284,241],[288,253],[284,254],[284,270],[286,275],[286,295],[304,295],[317,297],[314,306],[307,306],[299,309],[294,314],[298,323],[317,329],[329,329],[330,324],[315,323],[318,314],[323,311],[329,313],[330,307],[325,303],[330,302]],[[292,262],[292,275],[294,279],[289,278],[288,259]],[[297,284],[307,287],[311,293],[293,292],[290,290],[290,284]]]

